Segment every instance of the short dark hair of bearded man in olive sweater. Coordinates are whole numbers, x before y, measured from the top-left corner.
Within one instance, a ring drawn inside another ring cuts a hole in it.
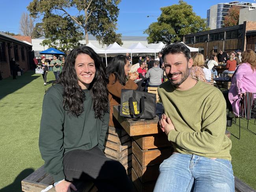
[[[187,61],[191,59],[191,54],[189,48],[182,42],[174,42],[173,44],[166,45],[162,50],[162,58],[168,54],[184,54]]]

